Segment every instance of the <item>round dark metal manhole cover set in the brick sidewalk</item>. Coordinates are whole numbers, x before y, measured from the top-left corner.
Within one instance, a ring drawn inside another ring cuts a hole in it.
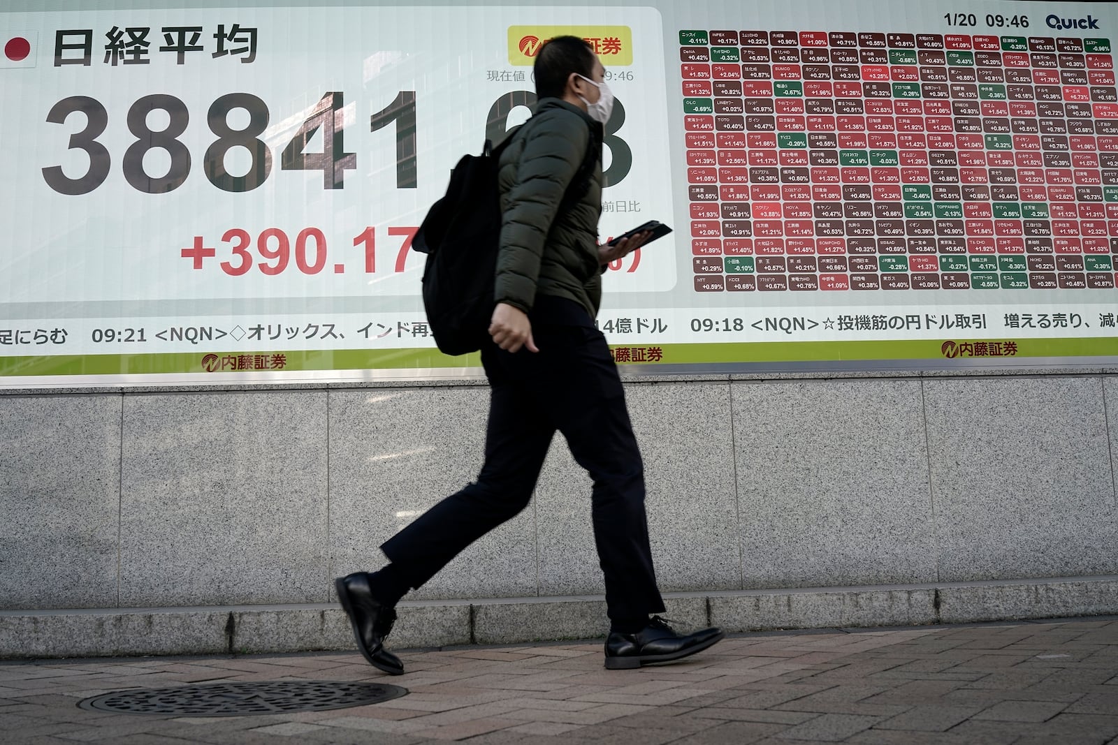
[[[218,682],[178,688],[140,688],[102,694],[78,703],[84,709],[116,714],[174,714],[236,717],[253,714],[323,711],[399,698],[407,688],[334,680]]]

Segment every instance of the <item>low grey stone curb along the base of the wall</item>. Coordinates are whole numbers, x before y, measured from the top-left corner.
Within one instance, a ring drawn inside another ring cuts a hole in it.
[[[666,593],[681,629],[731,632],[925,625],[1118,614],[1118,576],[865,588]],[[446,647],[601,637],[600,595],[405,601],[392,646]],[[0,658],[351,650],[332,603],[0,611]]]

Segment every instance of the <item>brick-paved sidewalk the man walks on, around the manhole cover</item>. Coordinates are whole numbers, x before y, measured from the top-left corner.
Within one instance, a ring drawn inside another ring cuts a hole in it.
[[[676,665],[610,671],[601,643],[0,663],[0,742],[1118,744],[1118,617],[739,634]],[[77,708],[123,688],[362,680],[408,696],[252,717]]]

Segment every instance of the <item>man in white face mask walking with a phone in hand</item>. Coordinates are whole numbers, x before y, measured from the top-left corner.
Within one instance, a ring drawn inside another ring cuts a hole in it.
[[[606,667],[680,659],[724,636],[719,629],[681,636],[654,615],[664,603],[648,546],[644,468],[617,366],[594,325],[605,265],[648,238],[598,245],[603,125],[613,107],[604,76],[582,39],[543,45],[534,64],[539,104],[501,155],[496,307],[492,343],[482,348],[491,399],[477,480],[386,542],[390,563],[379,572],[334,582],[361,653],[386,672],[404,672],[383,648],[396,603],[528,506],[556,431],[594,479],[594,537],[610,622]],[[572,184],[590,147],[594,173]]]

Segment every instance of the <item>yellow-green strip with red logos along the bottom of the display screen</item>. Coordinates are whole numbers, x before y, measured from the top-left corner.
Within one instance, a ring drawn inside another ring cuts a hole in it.
[[[717,364],[885,360],[995,360],[1118,356],[1118,336],[872,342],[748,342],[709,344],[615,344],[623,364]],[[266,365],[266,366],[265,366]],[[92,354],[0,357],[0,376],[159,375],[209,372],[331,370],[428,370],[480,367],[480,354],[447,356],[437,350],[337,350],[262,354]]]

